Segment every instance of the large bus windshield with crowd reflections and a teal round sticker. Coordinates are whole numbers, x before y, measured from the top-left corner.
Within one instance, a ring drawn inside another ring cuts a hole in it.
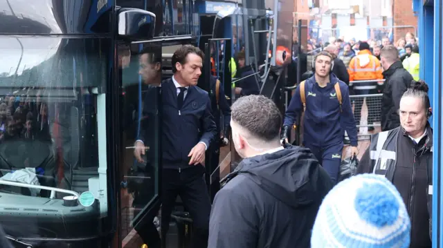
[[[100,233],[110,47],[102,38],[0,36],[0,222],[11,236]]]

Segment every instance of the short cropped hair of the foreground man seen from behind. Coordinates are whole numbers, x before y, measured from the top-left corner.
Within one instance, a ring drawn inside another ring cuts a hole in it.
[[[248,95],[234,102],[231,119],[251,135],[263,141],[279,138],[282,115],[271,99],[263,95]]]

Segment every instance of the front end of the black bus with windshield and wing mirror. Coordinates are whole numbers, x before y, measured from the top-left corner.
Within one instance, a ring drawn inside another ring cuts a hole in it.
[[[152,39],[156,15],[111,0],[0,7],[0,225],[15,247],[120,247],[118,48]]]

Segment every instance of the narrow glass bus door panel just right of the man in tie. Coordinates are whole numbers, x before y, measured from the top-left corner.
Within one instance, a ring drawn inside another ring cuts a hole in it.
[[[206,154],[206,183],[211,200],[219,191],[220,178],[230,173],[229,122],[230,105],[232,104],[233,88],[231,87],[232,70],[235,63],[231,59],[230,39],[209,39],[205,44],[204,70],[199,86],[208,91],[211,109],[217,124],[219,135],[215,137],[211,148]],[[206,66],[209,65],[209,66]],[[233,150],[235,151],[235,149]]]

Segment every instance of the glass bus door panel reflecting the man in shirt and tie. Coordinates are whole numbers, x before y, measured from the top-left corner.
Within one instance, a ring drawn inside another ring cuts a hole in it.
[[[159,93],[161,84],[161,45],[132,44],[128,66],[122,70],[123,145],[127,148],[121,165],[122,178],[127,184],[122,196],[123,237],[145,217],[150,202],[159,189]],[[137,158],[134,144],[141,141],[145,153]],[[152,213],[156,215],[156,213]],[[151,216],[151,215],[150,215]],[[152,220],[147,220],[151,221]]]

